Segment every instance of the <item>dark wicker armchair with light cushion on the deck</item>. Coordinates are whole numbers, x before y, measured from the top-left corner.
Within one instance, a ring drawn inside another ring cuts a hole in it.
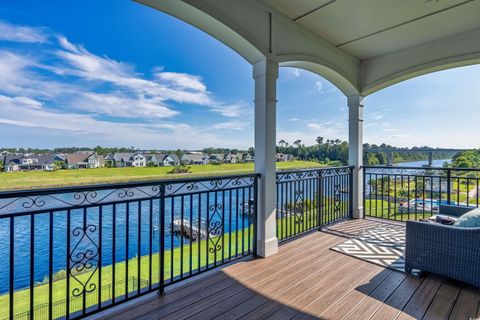
[[[471,208],[441,206],[440,214],[460,216]],[[405,271],[432,272],[480,287],[480,228],[407,221]]]

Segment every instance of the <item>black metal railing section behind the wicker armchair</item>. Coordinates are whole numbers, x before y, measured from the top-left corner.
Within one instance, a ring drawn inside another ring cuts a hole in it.
[[[425,219],[440,205],[479,206],[480,169],[363,167],[365,215]]]

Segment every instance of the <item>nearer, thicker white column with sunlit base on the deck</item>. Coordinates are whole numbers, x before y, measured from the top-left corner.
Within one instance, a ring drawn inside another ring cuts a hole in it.
[[[257,254],[278,251],[276,235],[276,107],[278,63],[262,60],[253,65],[255,80],[255,172],[258,184]]]

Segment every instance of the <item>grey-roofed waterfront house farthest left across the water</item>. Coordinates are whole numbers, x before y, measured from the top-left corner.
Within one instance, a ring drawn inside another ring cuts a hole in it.
[[[53,171],[55,161],[62,158],[51,154],[8,155],[3,159],[5,172],[44,170]]]

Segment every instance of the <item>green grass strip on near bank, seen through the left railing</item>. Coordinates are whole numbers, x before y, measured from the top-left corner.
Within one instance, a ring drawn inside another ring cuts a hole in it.
[[[243,249],[245,253],[248,251],[249,242],[252,241],[253,236],[253,228],[250,227],[250,238],[248,228],[245,228],[243,232],[232,232],[227,233],[223,236],[223,258],[228,260],[228,257],[235,257],[236,253],[241,256]],[[221,238],[214,238],[213,240],[222,243]],[[243,248],[242,248],[242,241],[243,241]],[[238,247],[237,247],[238,243]],[[198,246],[200,245],[200,267],[203,269],[207,266],[207,256],[209,260],[209,265],[216,261],[217,263],[222,262],[222,250],[218,251],[217,254],[209,252],[207,255],[207,250],[213,248],[212,242],[210,242],[207,248],[207,240],[202,240],[200,243],[194,242],[191,245],[192,251],[192,270],[195,273],[199,267],[199,259],[198,259]],[[238,248],[238,251],[237,251]],[[250,244],[250,248],[253,250],[252,245]],[[213,250],[212,250],[213,251]],[[134,296],[137,292],[137,277],[138,277],[138,258],[132,258],[128,261],[128,277],[126,275],[126,263],[125,262],[117,262],[115,264],[115,277],[116,277],[116,286],[115,286],[115,297],[119,298],[119,300],[123,299],[125,296],[125,279],[129,279],[128,281],[128,292],[130,296]],[[152,255],[152,284],[158,284],[159,282],[159,264],[160,263],[160,256],[158,253]],[[142,280],[140,284],[140,288],[144,289],[148,287],[148,280],[149,280],[149,270],[150,270],[150,259],[148,256],[142,256],[140,258],[140,279]],[[190,245],[183,246],[183,268],[181,265],[181,248],[177,247],[173,250],[173,257],[172,251],[166,250],[165,251],[165,269],[164,269],[164,279],[165,282],[168,283],[170,279],[173,277],[178,277],[181,273],[184,275],[188,275],[190,271]],[[98,284],[99,284],[99,272],[98,270],[88,273],[82,273],[76,276],[80,282],[87,283],[87,288],[90,285],[95,285],[96,289],[93,293],[87,294],[86,305],[87,307],[96,306],[98,301]],[[88,278],[90,278],[88,281]],[[133,278],[135,277],[135,278]],[[102,267],[102,301],[109,301],[112,297],[112,265],[103,266]],[[66,304],[65,304],[65,296],[67,292],[67,284],[66,279],[60,279],[53,282],[52,285],[52,302],[54,307],[52,308],[52,316],[53,318],[59,318],[65,316]],[[73,297],[73,292],[75,289],[81,290],[82,287],[80,283],[73,277],[70,276],[70,313],[74,313],[77,311],[82,310],[82,298],[75,298]],[[34,295],[35,295],[35,302],[34,305],[39,308],[35,311],[35,319],[47,319],[48,318],[48,307],[47,304],[49,302],[49,286],[48,282],[45,284],[38,284],[34,288]],[[14,312],[15,314],[21,314],[24,312],[28,312],[30,308],[30,289],[23,289],[18,290],[14,293]],[[5,306],[0,309],[0,319],[8,319],[8,312],[9,312],[9,295],[0,296],[0,305]],[[23,317],[22,317],[23,319]]]

